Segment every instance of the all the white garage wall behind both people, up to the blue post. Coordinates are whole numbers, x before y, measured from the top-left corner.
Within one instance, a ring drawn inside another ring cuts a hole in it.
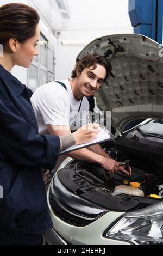
[[[56,79],[71,76],[75,59],[88,42],[99,36],[133,33],[128,15],[128,0],[65,1],[69,5],[70,19],[61,16],[55,0],[1,0],[0,3],[26,3],[39,11],[41,32],[55,49]],[[28,84],[27,69],[15,67],[12,74]]]

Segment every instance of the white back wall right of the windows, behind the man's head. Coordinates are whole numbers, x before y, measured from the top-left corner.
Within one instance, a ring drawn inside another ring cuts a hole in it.
[[[71,19],[63,19],[56,52],[56,78],[70,77],[78,53],[99,36],[133,33],[128,0],[68,0]],[[61,42],[68,43],[62,45]]]

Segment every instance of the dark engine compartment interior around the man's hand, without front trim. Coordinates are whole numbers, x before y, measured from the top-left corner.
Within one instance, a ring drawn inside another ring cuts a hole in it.
[[[141,190],[146,197],[150,194],[163,196],[163,191],[161,193],[163,188],[163,162],[145,159],[144,156],[134,157],[128,155],[127,152],[117,149],[114,144],[103,150],[118,162],[130,160],[130,167],[132,169],[130,179],[127,174],[121,171],[109,173],[101,166],[89,162],[80,161],[78,168],[86,170],[87,175],[92,174],[99,179],[99,182],[102,181],[104,186],[113,190],[118,185],[128,185],[129,182],[139,182]],[[140,166],[143,167],[143,169],[140,168]]]

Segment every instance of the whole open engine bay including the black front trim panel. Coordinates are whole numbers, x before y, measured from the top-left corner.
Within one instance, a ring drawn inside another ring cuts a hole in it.
[[[71,160],[57,172],[60,182],[73,194],[110,211],[133,211],[162,202],[163,162],[144,155],[131,154],[117,148],[114,141],[102,145],[103,150],[118,162],[130,160],[130,182],[139,182],[145,196],[114,194],[117,185],[127,184],[129,176],[117,171],[109,173],[95,163]],[[55,178],[55,175],[54,175]],[[150,194],[161,198],[148,197]]]

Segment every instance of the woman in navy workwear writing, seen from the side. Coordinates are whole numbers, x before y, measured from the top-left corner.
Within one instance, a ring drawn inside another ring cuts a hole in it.
[[[0,245],[41,245],[52,227],[42,169],[53,169],[59,151],[91,141],[98,126],[68,137],[39,136],[26,86],[11,75],[14,65],[28,68],[37,51],[39,15],[27,5],[0,7]]]

